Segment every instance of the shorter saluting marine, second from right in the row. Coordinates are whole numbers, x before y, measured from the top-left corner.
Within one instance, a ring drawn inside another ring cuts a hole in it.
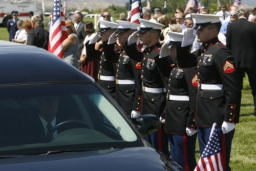
[[[183,33],[168,32],[170,41],[162,45],[160,56],[156,59],[162,77],[168,78],[164,130],[168,134],[170,156],[186,170],[194,170],[197,162],[196,123],[194,119],[196,92],[198,86],[196,66],[182,68],[171,64],[167,55],[177,59],[176,47],[181,46]],[[162,121],[163,122],[163,121]],[[186,132],[190,129],[193,133]]]

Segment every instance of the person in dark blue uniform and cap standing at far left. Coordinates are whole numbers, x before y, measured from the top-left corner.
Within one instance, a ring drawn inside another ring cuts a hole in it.
[[[12,19],[9,19],[7,22],[7,30],[9,32],[9,41],[12,41],[15,37],[15,33],[18,31],[17,28],[17,11],[12,11]]]

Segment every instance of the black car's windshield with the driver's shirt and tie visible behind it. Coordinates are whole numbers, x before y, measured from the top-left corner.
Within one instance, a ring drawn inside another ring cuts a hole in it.
[[[0,155],[143,146],[94,84],[2,86],[0,109]]]

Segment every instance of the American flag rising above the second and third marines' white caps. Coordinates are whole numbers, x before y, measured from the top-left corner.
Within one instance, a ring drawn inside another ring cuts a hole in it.
[[[130,0],[127,21],[139,24],[139,18],[143,18],[140,0]]]

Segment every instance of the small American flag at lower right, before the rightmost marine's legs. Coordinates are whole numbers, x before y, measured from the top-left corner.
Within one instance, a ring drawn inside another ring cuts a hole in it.
[[[197,167],[197,170],[223,170],[222,167],[222,135],[218,135],[217,124],[214,123],[211,128],[211,133],[207,145],[201,155]],[[224,167],[225,168],[225,167]]]

